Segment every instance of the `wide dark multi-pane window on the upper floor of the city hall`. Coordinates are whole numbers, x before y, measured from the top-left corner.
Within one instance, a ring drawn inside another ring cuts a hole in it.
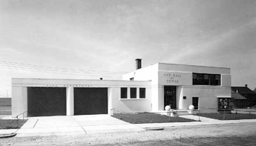
[[[220,86],[220,74],[193,73],[193,85]]]

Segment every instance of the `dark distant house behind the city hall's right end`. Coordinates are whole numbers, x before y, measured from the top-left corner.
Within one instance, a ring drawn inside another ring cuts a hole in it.
[[[234,97],[236,108],[252,107],[256,105],[256,93],[245,86],[232,86],[231,95]]]

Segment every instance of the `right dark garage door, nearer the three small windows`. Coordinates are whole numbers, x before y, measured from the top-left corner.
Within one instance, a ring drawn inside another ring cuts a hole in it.
[[[107,114],[108,89],[103,87],[75,87],[74,114]]]

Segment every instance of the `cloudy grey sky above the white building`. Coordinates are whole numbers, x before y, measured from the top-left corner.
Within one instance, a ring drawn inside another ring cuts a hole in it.
[[[121,79],[158,62],[231,68],[256,87],[256,1],[0,0],[0,97],[11,78]]]

